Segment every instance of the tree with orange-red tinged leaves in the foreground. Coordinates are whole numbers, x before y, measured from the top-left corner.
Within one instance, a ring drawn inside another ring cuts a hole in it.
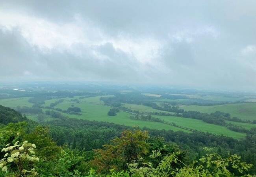
[[[92,160],[98,170],[115,169],[122,171],[127,169],[127,163],[140,159],[148,153],[149,138],[146,131],[139,129],[125,130],[121,137],[112,140],[113,145],[103,145],[103,149],[94,149],[96,155]]]

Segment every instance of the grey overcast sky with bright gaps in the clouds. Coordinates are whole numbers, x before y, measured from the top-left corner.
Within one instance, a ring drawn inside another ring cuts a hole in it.
[[[255,0],[0,0],[0,81],[256,89]]]

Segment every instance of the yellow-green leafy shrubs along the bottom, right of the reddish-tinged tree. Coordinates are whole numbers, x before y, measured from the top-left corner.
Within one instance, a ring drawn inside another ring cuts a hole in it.
[[[207,151],[209,150],[208,148],[205,149]],[[234,173],[232,173],[230,170],[238,170],[240,173],[244,174],[245,171],[248,171],[252,167],[251,164],[241,162],[241,157],[237,155],[229,155],[227,158],[223,158],[217,153],[206,154],[206,157],[202,157],[200,159],[200,162],[202,162],[202,164],[198,164],[197,161],[194,161],[187,166],[186,164],[184,164],[184,162],[180,161],[177,158],[177,155],[179,154],[180,152],[177,151],[165,156],[156,168],[153,168],[150,162],[143,163],[142,166],[139,166],[140,160],[134,161],[133,163],[130,163],[128,165],[130,172],[132,173],[131,176],[234,177]],[[160,151],[153,151],[153,154],[150,155],[150,157],[154,159],[156,157],[159,157],[160,155]],[[178,162],[184,164],[184,167],[173,169],[171,164]]]

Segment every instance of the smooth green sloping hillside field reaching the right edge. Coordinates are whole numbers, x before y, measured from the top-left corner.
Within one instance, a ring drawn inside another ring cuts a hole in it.
[[[232,117],[238,117],[242,120],[256,120],[256,103],[236,103],[215,106],[180,105],[180,108],[186,111],[200,111],[206,113],[221,111],[230,113]]]

